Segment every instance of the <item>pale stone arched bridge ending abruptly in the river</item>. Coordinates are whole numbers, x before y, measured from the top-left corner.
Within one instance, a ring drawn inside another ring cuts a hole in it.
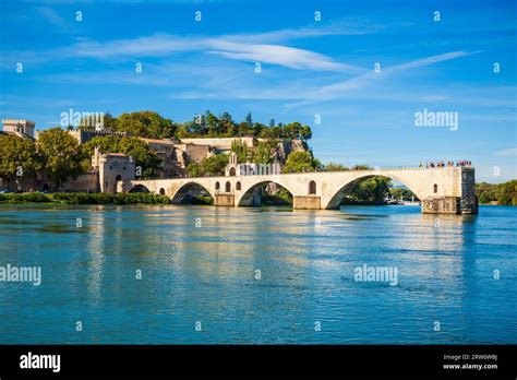
[[[293,198],[293,209],[338,209],[346,192],[358,182],[388,177],[408,187],[421,201],[422,213],[477,214],[473,168],[404,168],[347,171],[313,171],[238,177],[196,177],[118,181],[118,192],[148,191],[181,203],[193,186],[202,187],[214,199],[214,205],[260,205],[260,189],[277,183]]]

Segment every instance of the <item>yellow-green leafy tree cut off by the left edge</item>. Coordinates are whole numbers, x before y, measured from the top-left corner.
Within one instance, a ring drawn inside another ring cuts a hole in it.
[[[17,177],[34,176],[40,168],[41,157],[32,140],[0,135],[0,177],[11,183]]]

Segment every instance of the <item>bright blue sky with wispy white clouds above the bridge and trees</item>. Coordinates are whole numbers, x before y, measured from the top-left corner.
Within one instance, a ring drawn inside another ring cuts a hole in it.
[[[180,122],[251,111],[312,126],[324,163],[471,159],[478,180],[517,178],[517,1],[8,0],[0,11],[1,118],[46,129],[70,108]],[[423,109],[458,112],[458,129],[416,127]]]

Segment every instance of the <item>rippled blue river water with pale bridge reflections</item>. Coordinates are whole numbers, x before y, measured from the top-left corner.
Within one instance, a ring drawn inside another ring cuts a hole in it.
[[[0,344],[517,343],[517,207],[0,205],[8,264]]]

